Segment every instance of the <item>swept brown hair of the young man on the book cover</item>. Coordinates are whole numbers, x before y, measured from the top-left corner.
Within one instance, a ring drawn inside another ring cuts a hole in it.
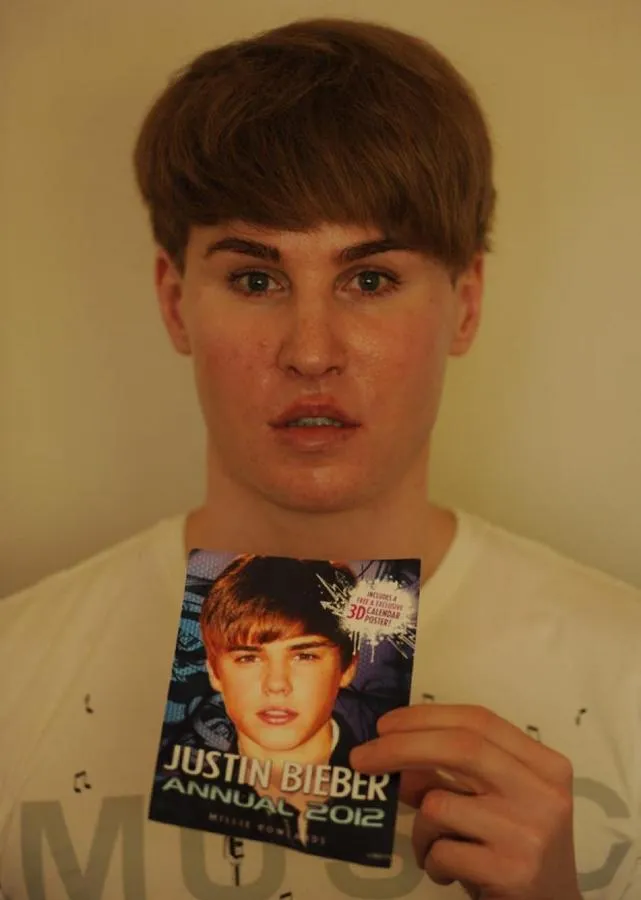
[[[323,604],[332,599],[328,588],[346,597],[355,584],[353,572],[341,563],[237,557],[214,581],[200,611],[210,662],[234,645],[318,634],[337,645],[345,670],[354,655],[352,638]]]

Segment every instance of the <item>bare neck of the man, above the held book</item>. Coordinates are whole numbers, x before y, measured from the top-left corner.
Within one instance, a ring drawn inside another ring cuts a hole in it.
[[[456,518],[428,501],[423,472],[358,508],[332,512],[279,507],[210,474],[205,503],[187,518],[186,550],[300,559],[418,558],[424,582],[447,553]]]

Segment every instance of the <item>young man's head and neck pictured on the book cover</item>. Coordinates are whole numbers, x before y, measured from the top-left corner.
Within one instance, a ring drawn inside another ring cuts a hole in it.
[[[264,557],[240,557],[214,582],[200,619],[207,670],[234,724],[235,750],[280,764],[327,764],[339,746],[357,743],[345,733],[339,741],[332,713],[358,656],[337,617],[321,606],[319,576],[330,584],[338,573],[355,579],[346,566],[330,563],[292,559],[274,566]]]

